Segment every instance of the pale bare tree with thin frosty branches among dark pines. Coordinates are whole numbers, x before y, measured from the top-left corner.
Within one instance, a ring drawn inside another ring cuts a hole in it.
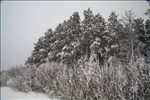
[[[135,43],[135,30],[134,30],[134,19],[135,12],[132,10],[125,11],[125,16],[123,17],[124,23],[124,39],[121,41],[126,47],[121,48],[121,51],[126,54],[126,58],[130,63],[134,62],[134,43]],[[128,62],[127,61],[127,62]]]

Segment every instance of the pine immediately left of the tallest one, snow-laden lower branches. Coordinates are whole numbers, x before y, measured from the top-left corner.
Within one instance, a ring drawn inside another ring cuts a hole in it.
[[[80,58],[80,34],[80,16],[78,12],[74,12],[67,21],[65,45],[61,52],[57,54],[61,57],[63,63],[73,64]]]

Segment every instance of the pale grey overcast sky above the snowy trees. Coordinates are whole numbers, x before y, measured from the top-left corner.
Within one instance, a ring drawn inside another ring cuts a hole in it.
[[[137,17],[146,19],[143,13],[150,6],[146,1],[1,1],[1,69],[24,64],[34,43],[47,29],[54,30],[75,11],[83,19],[83,11],[88,7],[104,18],[111,11],[121,18],[125,10],[132,9]]]

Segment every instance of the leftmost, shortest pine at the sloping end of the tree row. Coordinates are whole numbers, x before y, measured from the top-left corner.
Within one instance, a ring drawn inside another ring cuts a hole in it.
[[[34,44],[34,50],[32,51],[31,56],[27,59],[26,64],[40,65],[42,63],[45,63],[50,51],[50,45],[54,41],[55,40],[53,39],[53,32],[51,29],[49,29],[45,33],[45,36],[39,38],[38,42]]]

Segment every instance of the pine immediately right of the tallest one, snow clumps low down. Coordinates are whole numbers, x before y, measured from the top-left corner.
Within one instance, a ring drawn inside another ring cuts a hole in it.
[[[96,56],[98,65],[104,65],[106,56],[105,47],[107,46],[106,25],[104,18],[98,13],[92,21],[92,38],[91,38],[91,56]]]

